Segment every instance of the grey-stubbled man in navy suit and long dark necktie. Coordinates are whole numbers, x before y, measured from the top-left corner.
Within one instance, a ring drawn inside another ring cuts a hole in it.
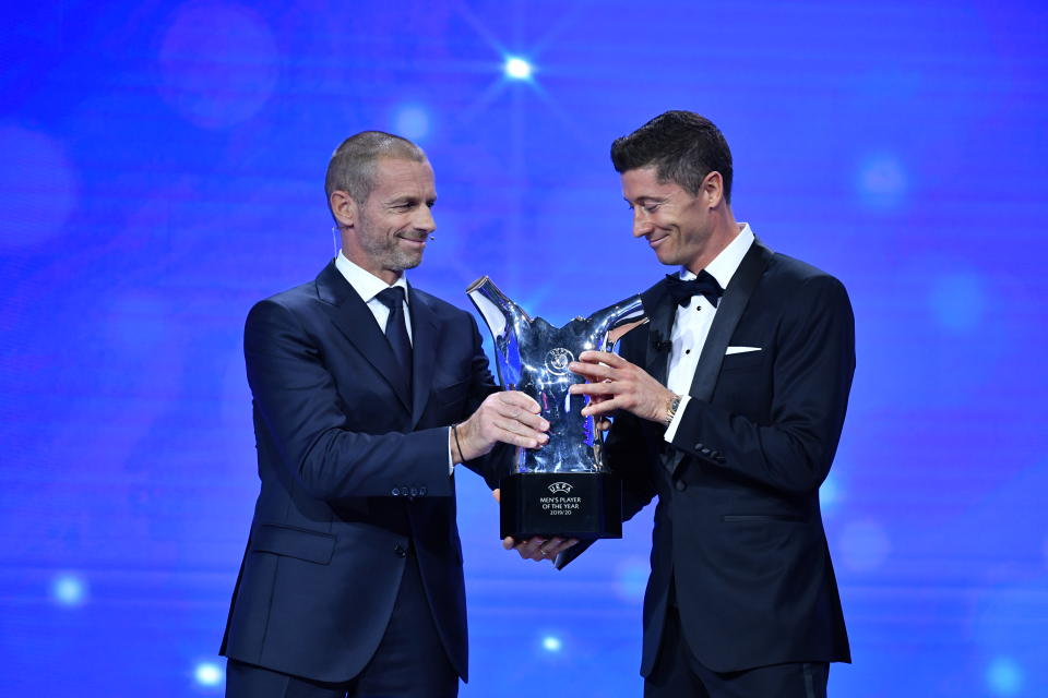
[[[261,492],[221,650],[226,695],[455,696],[456,465],[495,486],[500,452],[538,447],[548,423],[497,392],[472,315],[406,282],[436,228],[421,149],[359,133],[325,192],[342,252],[245,327]]]

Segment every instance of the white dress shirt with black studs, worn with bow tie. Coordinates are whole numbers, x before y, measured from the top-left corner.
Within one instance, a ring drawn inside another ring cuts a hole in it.
[[[739,264],[742,263],[742,257],[746,256],[750,245],[753,244],[753,231],[750,230],[750,224],[742,222],[739,225],[741,227],[739,233],[705,268],[713,278],[717,279],[720,288],[728,288],[728,282],[735,276]],[[687,268],[680,270],[680,278],[686,281],[696,276]],[[713,325],[713,318],[716,314],[717,309],[704,296],[693,296],[687,306],[677,306],[677,316],[674,320],[674,330],[670,335],[672,348],[669,351],[666,387],[682,397],[677,413],[674,414],[672,421],[666,428],[666,441],[674,441],[681,416],[691,399],[688,390],[691,389],[691,381],[695,376],[699,357],[702,354],[702,348],[706,344],[706,336],[710,334],[710,327]]]

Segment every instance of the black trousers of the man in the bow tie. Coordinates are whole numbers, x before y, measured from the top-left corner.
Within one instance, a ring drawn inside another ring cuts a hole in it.
[[[826,698],[830,665],[797,662],[743,672],[714,672],[691,653],[681,635],[680,615],[670,604],[663,642],[644,698]]]

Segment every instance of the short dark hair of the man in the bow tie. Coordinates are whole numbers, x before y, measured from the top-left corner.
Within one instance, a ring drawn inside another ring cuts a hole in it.
[[[617,172],[655,167],[660,182],[674,182],[692,195],[703,178],[720,172],[724,198],[731,203],[731,151],[724,134],[705,117],[693,111],[660,113],[611,144]]]

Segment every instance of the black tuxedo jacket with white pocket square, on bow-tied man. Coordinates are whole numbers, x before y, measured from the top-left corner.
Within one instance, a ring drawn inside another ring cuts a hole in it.
[[[642,300],[651,322],[620,351],[665,385],[676,306],[665,280]],[[643,675],[668,603],[714,671],[850,661],[819,485],[844,423],[854,335],[839,281],[754,242],[720,300],[672,443],[662,424],[615,419],[605,453],[623,477],[627,516],[658,498]]]

